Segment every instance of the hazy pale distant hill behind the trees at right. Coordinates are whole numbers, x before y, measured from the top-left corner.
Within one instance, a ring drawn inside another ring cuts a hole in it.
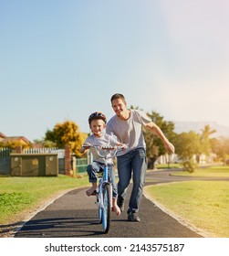
[[[210,127],[216,130],[216,133],[213,133],[213,137],[229,137],[229,127],[225,125],[219,125],[216,122],[174,122],[175,123],[175,132],[176,133],[188,133],[194,131],[196,133],[201,133],[201,130],[205,125],[210,125]]]

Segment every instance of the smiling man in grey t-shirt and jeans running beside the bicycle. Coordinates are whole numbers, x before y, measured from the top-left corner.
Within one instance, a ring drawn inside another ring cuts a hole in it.
[[[174,153],[174,146],[168,141],[161,129],[140,110],[127,109],[125,97],[114,94],[111,99],[111,106],[115,115],[107,123],[106,132],[115,135],[120,143],[129,144],[129,149],[119,152],[117,155],[118,164],[118,206],[124,210],[124,199],[130,185],[132,176],[133,187],[130,195],[128,208],[128,220],[141,221],[139,208],[144,187],[146,165],[146,144],[142,132],[142,126],[150,128],[160,138],[166,149]]]

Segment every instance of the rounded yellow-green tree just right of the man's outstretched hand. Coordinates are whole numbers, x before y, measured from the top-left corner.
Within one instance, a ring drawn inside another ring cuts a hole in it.
[[[200,135],[193,131],[177,134],[174,146],[176,154],[182,159],[184,169],[188,172],[193,172],[196,167],[193,155],[200,154],[201,152]]]

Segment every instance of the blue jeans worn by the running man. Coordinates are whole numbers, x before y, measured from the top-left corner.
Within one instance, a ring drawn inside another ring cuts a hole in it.
[[[136,148],[125,155],[118,156],[117,165],[119,173],[119,197],[125,199],[132,176],[133,188],[130,195],[128,213],[130,211],[138,212],[140,208],[147,169],[145,149]]]

